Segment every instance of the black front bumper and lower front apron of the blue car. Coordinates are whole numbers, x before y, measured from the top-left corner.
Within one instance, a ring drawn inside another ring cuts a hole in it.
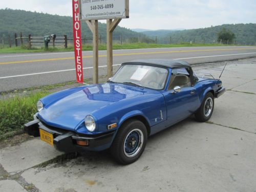
[[[39,129],[42,129],[53,135],[54,147],[61,152],[79,152],[79,151],[102,151],[111,146],[115,131],[98,135],[78,135],[75,132],[51,127],[39,119],[25,124],[25,132],[34,137],[39,137]],[[77,145],[77,141],[87,141],[87,146]]]

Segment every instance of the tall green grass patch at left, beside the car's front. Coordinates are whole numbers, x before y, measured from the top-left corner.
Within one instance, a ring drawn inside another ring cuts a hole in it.
[[[0,100],[0,135],[23,130],[24,124],[33,120],[37,100],[48,94],[48,91],[41,91]]]

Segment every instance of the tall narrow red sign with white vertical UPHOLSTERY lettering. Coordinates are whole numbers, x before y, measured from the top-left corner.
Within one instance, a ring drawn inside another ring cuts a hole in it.
[[[73,34],[74,34],[74,51],[76,63],[76,81],[83,83],[82,69],[82,39],[81,39],[81,22],[79,17],[79,2],[73,1]]]

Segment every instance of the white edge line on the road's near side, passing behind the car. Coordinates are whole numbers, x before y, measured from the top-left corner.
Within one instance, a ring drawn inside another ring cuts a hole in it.
[[[181,59],[196,59],[196,58],[207,58],[207,57],[223,57],[223,56],[233,56],[233,55],[248,55],[248,54],[256,54],[256,53],[239,53],[239,54],[229,54],[229,55],[211,55],[211,56],[201,56],[201,57],[187,57],[187,58],[177,58],[174,60],[181,60]],[[113,66],[120,66],[121,64],[113,65]],[[99,68],[104,68],[106,66],[99,66]],[[83,69],[93,69],[93,67],[87,67]],[[31,74],[24,74],[24,75],[14,75],[14,76],[7,76],[7,77],[0,77],[0,79],[7,79],[13,77],[24,77],[24,76],[31,76],[31,75],[41,75],[41,74],[48,74],[48,73],[59,73],[59,72],[67,72],[67,71],[75,71],[75,69],[67,69],[67,70],[59,70],[59,71],[48,71],[48,72],[41,72],[41,73],[31,73]]]

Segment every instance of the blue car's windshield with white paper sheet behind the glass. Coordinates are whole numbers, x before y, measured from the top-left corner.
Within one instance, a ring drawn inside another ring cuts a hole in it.
[[[124,65],[111,81],[155,90],[164,89],[168,70],[145,65]]]

